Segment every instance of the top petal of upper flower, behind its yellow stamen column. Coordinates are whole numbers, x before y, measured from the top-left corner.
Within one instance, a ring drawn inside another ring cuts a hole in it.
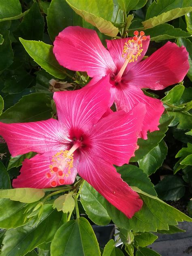
[[[123,66],[123,64],[125,62],[125,59],[122,58],[123,47],[124,47],[125,43],[131,39],[132,39],[132,37],[115,39],[115,40],[106,40],[107,41],[107,49],[109,50],[110,55],[113,58],[113,61],[115,62],[115,65],[117,66],[118,71],[121,69],[121,67]],[[128,70],[130,70],[130,68],[132,68],[135,64],[137,64],[138,62],[140,62],[143,59],[143,57],[145,56],[145,53],[149,47],[149,41],[150,41],[149,36],[147,36],[147,40],[142,41],[143,51],[141,53],[141,56],[138,56],[137,61],[131,62],[127,65],[125,73],[128,72]]]

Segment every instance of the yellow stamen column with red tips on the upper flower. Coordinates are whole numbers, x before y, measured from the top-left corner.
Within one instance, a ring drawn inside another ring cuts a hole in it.
[[[128,63],[137,61],[138,56],[140,56],[141,52],[143,51],[142,41],[145,41],[146,39],[147,36],[145,36],[145,33],[143,31],[141,31],[139,35],[139,32],[136,30],[134,31],[133,39],[125,43],[122,52],[122,58],[125,58],[125,62],[115,78],[116,83],[118,83],[121,80]]]

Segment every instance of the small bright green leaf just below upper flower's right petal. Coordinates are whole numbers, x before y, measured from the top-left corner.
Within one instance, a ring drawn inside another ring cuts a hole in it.
[[[176,85],[161,100],[165,102],[165,104],[166,102],[169,102],[170,104],[175,104],[177,101],[180,100],[184,90],[185,90],[185,86],[181,84]]]

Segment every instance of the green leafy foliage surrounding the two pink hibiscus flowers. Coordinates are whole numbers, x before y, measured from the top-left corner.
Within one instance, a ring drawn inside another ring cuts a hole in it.
[[[105,39],[143,30],[153,41],[147,56],[169,40],[186,47],[190,64],[181,83],[155,95],[144,91],[160,98],[165,111],[159,130],[138,140],[130,164],[117,167],[143,200],[131,219],[78,177],[71,186],[12,188],[23,160],[36,153],[12,157],[0,137],[2,256],[158,256],[146,247],[158,238],[151,232],[183,232],[178,222],[192,221],[191,11],[190,0],[0,0],[0,122],[57,118],[53,92],[85,86],[87,74],[60,66],[53,54],[55,36],[68,26],[96,30],[104,45]],[[51,79],[57,86],[51,87]],[[165,202],[179,199],[190,217]],[[100,248],[92,224],[109,223],[117,226],[119,238]],[[119,239],[125,252],[116,246]]]

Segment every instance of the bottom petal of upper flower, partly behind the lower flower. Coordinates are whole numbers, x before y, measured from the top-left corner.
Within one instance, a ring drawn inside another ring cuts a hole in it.
[[[159,119],[164,111],[163,104],[156,98],[146,96],[141,89],[126,84],[113,87],[111,90],[115,98],[117,111],[124,110],[129,112],[138,102],[142,102],[146,106],[146,114],[143,119],[141,137],[147,139],[147,131],[153,132],[159,130]]]

